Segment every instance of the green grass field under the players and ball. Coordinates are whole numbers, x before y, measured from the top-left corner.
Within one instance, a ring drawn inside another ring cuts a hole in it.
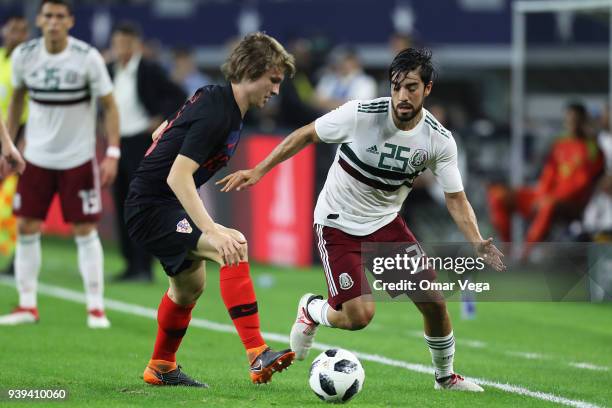
[[[155,284],[110,282],[121,269],[118,256],[107,249],[106,298],[155,309],[167,288],[161,270]],[[305,291],[322,293],[319,268],[254,266],[262,329],[287,336],[296,302]],[[45,291],[81,290],[72,241],[43,240],[41,282]],[[16,305],[15,289],[0,284],[0,310]],[[142,382],[152,351],[156,323],[144,315],[108,310],[111,330],[86,327],[85,307],[51,294],[39,296],[37,325],[0,328],[0,405],[10,403],[8,389],[66,389],[62,402],[34,406],[324,406],[307,384],[308,362],[294,364],[269,385],[251,385],[239,338],[223,331],[231,324],[219,296],[218,271],[210,265],[205,294],[193,316],[220,323],[218,329],[191,327],[178,354],[187,373],[210,388],[158,388]],[[374,321],[360,332],[321,329],[317,341],[365,353],[366,372],[354,406],[487,407],[606,406],[612,401],[612,305],[587,303],[481,303],[477,318],[462,321],[459,304],[449,308],[457,338],[456,370],[489,382],[482,394],[439,392],[433,378],[419,372],[430,364],[420,336],[421,318],[410,303],[380,303]],[[207,323],[197,320],[198,326]],[[274,336],[277,339],[277,336]],[[270,341],[275,348],[286,343]],[[309,360],[318,354],[315,350]],[[380,361],[378,355],[387,360]],[[373,361],[377,359],[378,361]],[[575,366],[578,364],[580,368]],[[500,384],[515,388],[500,389]],[[536,394],[539,393],[539,394]],[[525,395],[528,394],[528,395]],[[537,396],[540,396],[538,398]],[[550,402],[552,396],[560,397]]]

